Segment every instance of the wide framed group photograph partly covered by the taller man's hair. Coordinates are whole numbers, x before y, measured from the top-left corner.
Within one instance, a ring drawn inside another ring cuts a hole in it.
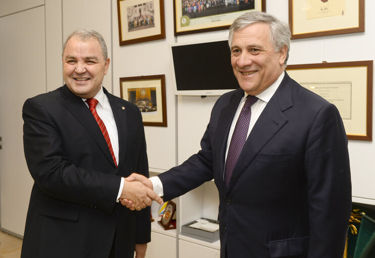
[[[173,0],[174,35],[228,29],[240,15],[266,11],[265,0]]]

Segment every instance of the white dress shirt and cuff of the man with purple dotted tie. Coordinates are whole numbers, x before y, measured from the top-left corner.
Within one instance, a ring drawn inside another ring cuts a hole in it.
[[[260,114],[263,112],[263,109],[266,107],[267,103],[269,102],[269,100],[271,99],[273,94],[276,92],[278,86],[283,81],[284,75],[285,75],[285,72],[283,72],[271,86],[269,86],[262,93],[260,93],[259,95],[256,96],[258,98],[258,100],[251,106],[251,119],[250,119],[247,137],[249,137],[249,134],[250,134],[251,130],[253,129],[254,124],[258,120]],[[241,99],[240,104],[237,107],[237,111],[235,113],[235,116],[233,117],[232,123],[230,125],[228,140],[227,140],[227,143],[226,143],[225,161],[226,161],[226,156],[228,155],[229,144],[230,144],[230,140],[231,140],[232,135],[233,135],[233,131],[235,130],[237,120],[240,116],[241,110],[242,110],[242,108],[245,104],[246,97],[248,95],[249,94],[247,94],[245,92],[244,97]],[[224,162],[224,164],[225,164],[225,162]],[[224,176],[224,172],[223,172],[223,176]],[[154,176],[154,177],[151,177],[150,180],[153,184],[154,191],[157,193],[157,195],[163,196],[164,195],[163,184],[160,181],[159,177]]]

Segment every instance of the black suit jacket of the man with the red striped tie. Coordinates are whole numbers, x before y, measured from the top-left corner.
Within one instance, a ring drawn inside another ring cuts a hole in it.
[[[104,89],[119,140],[115,166],[103,134],[81,98],[66,85],[26,100],[25,158],[34,179],[21,257],[133,257],[150,241],[150,209],[116,204],[121,176],[148,176],[139,109]]]

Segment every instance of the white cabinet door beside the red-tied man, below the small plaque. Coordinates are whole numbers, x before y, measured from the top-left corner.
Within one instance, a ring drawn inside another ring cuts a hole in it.
[[[176,238],[151,232],[146,258],[176,258]]]

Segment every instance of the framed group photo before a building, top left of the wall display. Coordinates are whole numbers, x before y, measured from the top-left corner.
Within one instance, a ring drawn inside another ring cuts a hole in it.
[[[164,0],[117,0],[120,46],[165,38]]]

